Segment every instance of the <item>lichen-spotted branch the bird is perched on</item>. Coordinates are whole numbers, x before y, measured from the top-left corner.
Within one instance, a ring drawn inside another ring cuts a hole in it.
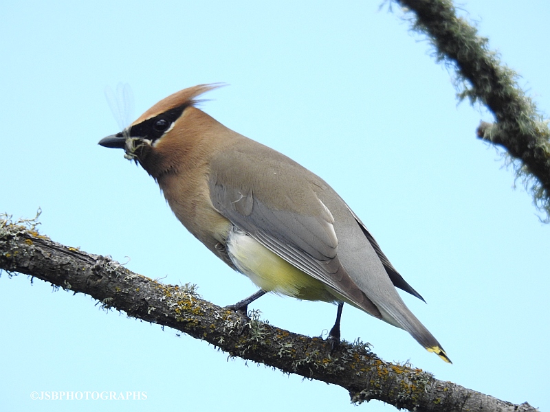
[[[104,308],[158,323],[207,341],[230,354],[288,374],[322,380],[349,391],[353,402],[377,399],[410,411],[536,411],[441,382],[410,365],[387,363],[363,343],[330,345],[220,308],[193,286],[172,286],[129,271],[108,257],[92,255],[40,235],[32,224],[0,217],[0,269],[24,273],[97,299]]]

